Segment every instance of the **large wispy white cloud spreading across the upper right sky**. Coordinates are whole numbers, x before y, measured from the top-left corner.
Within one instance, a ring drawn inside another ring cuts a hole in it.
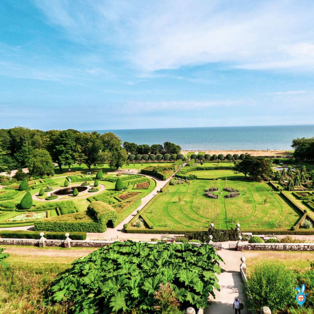
[[[314,69],[314,7],[300,1],[35,0],[73,40],[109,44],[116,57],[155,71],[208,62],[246,69]]]

